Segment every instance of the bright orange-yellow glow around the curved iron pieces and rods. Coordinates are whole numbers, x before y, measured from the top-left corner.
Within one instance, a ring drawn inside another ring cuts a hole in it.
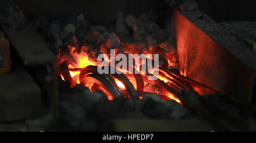
[[[153,93],[160,95],[165,100],[175,100],[177,103],[182,104],[181,100],[176,96],[181,89],[197,91],[201,95],[215,93],[213,90],[210,90],[200,83],[185,78],[183,75],[171,72],[171,70],[168,69],[170,65],[160,66],[158,69],[158,80],[156,81],[148,80],[148,74],[143,74],[141,70],[139,70],[139,67],[141,67],[143,63],[138,63],[138,61],[136,62],[135,60],[135,65],[139,66],[138,68],[134,66],[134,70],[138,70],[141,74],[131,74],[125,69],[119,68],[116,70],[122,72],[123,74],[121,75],[101,75],[97,73],[97,66],[100,62],[93,59],[96,55],[86,53],[89,49],[88,47],[79,49],[69,45],[68,49],[68,52],[60,51],[57,55],[60,77],[64,81],[69,81],[71,87],[81,84],[88,87],[91,91],[102,90],[108,96],[109,100],[114,100],[120,96],[143,99],[143,94]],[[127,52],[129,51],[129,47],[125,47],[124,51],[129,53]],[[115,52],[119,52],[118,48],[115,49]],[[150,58],[150,56],[146,54],[145,58]],[[154,60],[154,57],[152,60]],[[109,59],[106,62],[110,65]],[[151,74],[154,74],[154,72],[151,72]]]

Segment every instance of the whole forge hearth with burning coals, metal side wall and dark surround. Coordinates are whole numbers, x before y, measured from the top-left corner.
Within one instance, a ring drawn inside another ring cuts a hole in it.
[[[170,121],[255,129],[253,23],[219,24],[193,0],[118,1],[96,13],[61,2],[33,16],[39,5],[3,3],[0,121],[40,122],[47,131],[179,131]]]

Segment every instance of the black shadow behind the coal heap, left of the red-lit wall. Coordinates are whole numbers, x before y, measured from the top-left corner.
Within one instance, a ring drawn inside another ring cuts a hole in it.
[[[154,11],[158,15],[164,15],[166,3],[163,0],[14,0],[15,4],[25,13],[26,16],[49,10],[58,14],[63,11],[82,12],[86,19],[95,24],[108,25],[114,22],[118,12],[139,15],[143,12]],[[160,18],[164,18],[161,16]]]

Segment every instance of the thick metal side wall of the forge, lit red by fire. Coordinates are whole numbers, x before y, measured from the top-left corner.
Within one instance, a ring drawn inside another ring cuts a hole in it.
[[[171,8],[170,35],[176,38],[179,68],[185,76],[250,104],[256,54],[200,10]]]

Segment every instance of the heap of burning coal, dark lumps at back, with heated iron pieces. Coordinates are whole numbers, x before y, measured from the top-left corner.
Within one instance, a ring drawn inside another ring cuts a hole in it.
[[[82,18],[77,19],[80,27],[86,25]],[[90,27],[79,37],[80,32],[69,24],[55,38],[65,41],[58,46],[57,67],[71,87],[81,84],[101,90],[109,100],[143,99],[144,94],[154,93],[178,103],[181,89],[215,93],[179,73],[174,39],[155,22],[130,15],[118,19],[115,33],[102,26]]]

